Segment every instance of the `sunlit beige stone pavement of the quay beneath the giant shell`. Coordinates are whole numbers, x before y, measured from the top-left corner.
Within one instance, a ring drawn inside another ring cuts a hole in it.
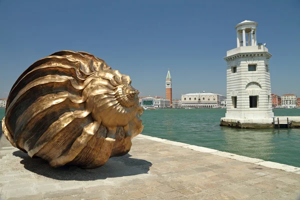
[[[300,174],[295,172],[200,152],[197,147],[192,150],[189,149],[192,147],[182,147],[186,145],[183,143],[159,138],[153,140],[145,135],[135,137],[132,143],[127,155],[110,158],[104,166],[96,169],[51,168],[46,161],[29,158],[13,148],[2,135],[0,199],[300,197]]]

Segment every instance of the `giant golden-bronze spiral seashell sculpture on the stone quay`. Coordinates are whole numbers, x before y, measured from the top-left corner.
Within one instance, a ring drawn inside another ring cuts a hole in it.
[[[10,143],[53,167],[95,168],[126,154],[143,108],[129,76],[81,51],[34,62],[13,84],[2,130]]]

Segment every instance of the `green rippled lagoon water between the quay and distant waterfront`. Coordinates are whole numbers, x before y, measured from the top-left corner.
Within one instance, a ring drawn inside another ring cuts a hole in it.
[[[300,109],[274,109],[275,116],[300,116]],[[205,146],[300,167],[300,129],[239,129],[219,126],[226,109],[156,109],[141,116],[142,134]],[[0,108],[0,119],[4,108]]]

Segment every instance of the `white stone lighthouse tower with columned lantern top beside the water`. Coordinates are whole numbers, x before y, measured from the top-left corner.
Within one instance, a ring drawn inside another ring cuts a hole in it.
[[[221,125],[268,127],[271,106],[269,58],[265,44],[256,41],[257,22],[235,26],[236,48],[227,51],[227,110]]]

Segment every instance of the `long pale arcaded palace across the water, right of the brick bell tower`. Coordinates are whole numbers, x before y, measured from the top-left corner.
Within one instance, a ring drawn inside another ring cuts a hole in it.
[[[187,93],[181,94],[182,107],[211,108],[218,107],[226,97],[216,93]]]

